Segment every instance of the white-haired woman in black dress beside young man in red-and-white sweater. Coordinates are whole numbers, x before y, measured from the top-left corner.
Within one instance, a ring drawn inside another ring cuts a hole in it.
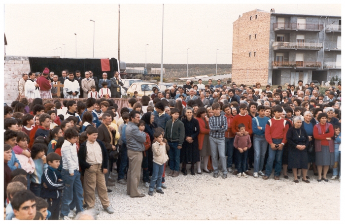
[[[307,131],[302,127],[302,118],[294,117],[293,127],[289,128],[286,133],[286,140],[289,150],[288,168],[292,169],[294,182],[298,183],[297,169],[302,169],[302,181],[310,183],[307,180],[308,171],[308,155],[307,146],[309,144],[309,136]]]

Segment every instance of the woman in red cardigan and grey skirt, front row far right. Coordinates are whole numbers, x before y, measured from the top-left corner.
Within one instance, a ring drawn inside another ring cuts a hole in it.
[[[320,113],[317,116],[317,120],[320,122],[313,128],[313,136],[315,138],[315,163],[317,166],[318,179],[320,182],[324,180],[328,182],[326,178],[330,165],[334,165],[334,129],[331,123],[327,123],[327,114]],[[321,173],[323,169],[323,177]]]

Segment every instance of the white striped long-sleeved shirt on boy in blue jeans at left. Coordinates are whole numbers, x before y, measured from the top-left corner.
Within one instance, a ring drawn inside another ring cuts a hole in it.
[[[77,155],[76,144],[71,144],[68,140],[65,140],[61,147],[62,168],[68,169],[69,173],[74,173],[74,170],[79,170],[79,161]]]

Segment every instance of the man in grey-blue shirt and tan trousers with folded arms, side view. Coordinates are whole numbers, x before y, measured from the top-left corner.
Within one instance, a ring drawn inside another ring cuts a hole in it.
[[[138,192],[142,152],[145,150],[143,143],[146,140],[145,132],[140,131],[138,128],[139,121],[140,113],[132,110],[130,112],[130,122],[125,130],[128,155],[127,194],[131,197],[145,196],[145,194]]]

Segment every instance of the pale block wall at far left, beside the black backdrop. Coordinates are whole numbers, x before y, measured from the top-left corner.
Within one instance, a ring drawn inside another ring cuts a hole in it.
[[[22,78],[23,72],[30,72],[28,57],[6,56],[4,61],[4,102],[7,104],[16,100],[18,92],[18,82]]]

